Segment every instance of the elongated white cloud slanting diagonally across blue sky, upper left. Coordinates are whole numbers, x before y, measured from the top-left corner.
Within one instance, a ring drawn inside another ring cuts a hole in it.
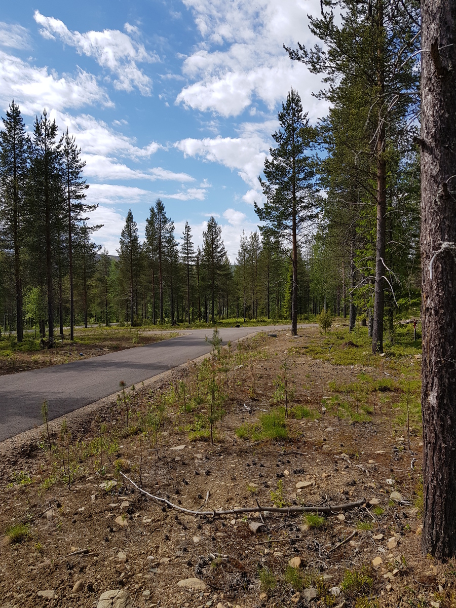
[[[103,32],[72,32],[63,21],[54,17],[46,17],[35,10],[33,15],[36,23],[41,26],[40,33],[44,38],[60,38],[65,44],[75,47],[80,55],[87,55],[97,63],[116,75],[114,87],[123,91],[132,91],[134,87],[143,95],[150,95],[152,82],[137,66],[137,63],[158,61],[155,53],[148,53],[142,43],[134,40],[131,35],[137,35],[139,30],[125,24],[128,33],[120,30],[103,30]]]

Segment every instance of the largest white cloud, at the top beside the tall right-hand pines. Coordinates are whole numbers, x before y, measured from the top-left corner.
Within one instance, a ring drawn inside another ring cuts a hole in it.
[[[184,75],[194,81],[176,103],[236,116],[254,97],[269,109],[298,89],[314,120],[323,107],[311,96],[320,78],[303,64],[290,61],[283,44],[308,44],[303,28],[308,13],[318,13],[319,0],[184,0],[202,36],[199,49],[185,58]]]

